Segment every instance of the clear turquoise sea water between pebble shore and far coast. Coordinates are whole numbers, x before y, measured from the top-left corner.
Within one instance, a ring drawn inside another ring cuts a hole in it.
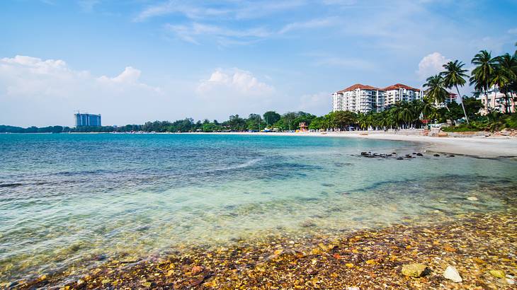
[[[361,151],[421,148],[332,137],[0,134],[0,282],[183,245],[505,211],[516,195],[515,161]]]

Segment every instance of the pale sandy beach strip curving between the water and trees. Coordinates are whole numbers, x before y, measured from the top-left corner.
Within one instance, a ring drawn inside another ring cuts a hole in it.
[[[402,132],[356,131],[356,132],[275,132],[275,133],[189,133],[189,134],[252,134],[267,136],[344,137],[392,141],[418,142],[428,152],[477,156],[482,158],[517,157],[515,137],[428,137],[419,130]]]

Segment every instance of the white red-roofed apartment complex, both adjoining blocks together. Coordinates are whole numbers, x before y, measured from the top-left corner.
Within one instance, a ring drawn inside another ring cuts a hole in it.
[[[332,111],[382,112],[399,101],[421,100],[422,92],[402,83],[375,88],[356,83],[332,95]]]

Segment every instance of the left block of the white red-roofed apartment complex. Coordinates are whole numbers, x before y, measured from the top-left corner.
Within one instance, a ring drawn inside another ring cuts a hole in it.
[[[332,111],[382,112],[384,91],[373,86],[356,83],[332,96]]]

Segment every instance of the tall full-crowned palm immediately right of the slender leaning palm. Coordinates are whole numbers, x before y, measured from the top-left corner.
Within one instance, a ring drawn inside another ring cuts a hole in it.
[[[488,94],[490,82],[494,75],[494,65],[496,59],[492,58],[492,54],[486,50],[480,51],[472,59],[472,64],[476,67],[472,70],[470,77],[470,85],[475,85],[475,89],[484,93],[484,111],[488,112]]]

